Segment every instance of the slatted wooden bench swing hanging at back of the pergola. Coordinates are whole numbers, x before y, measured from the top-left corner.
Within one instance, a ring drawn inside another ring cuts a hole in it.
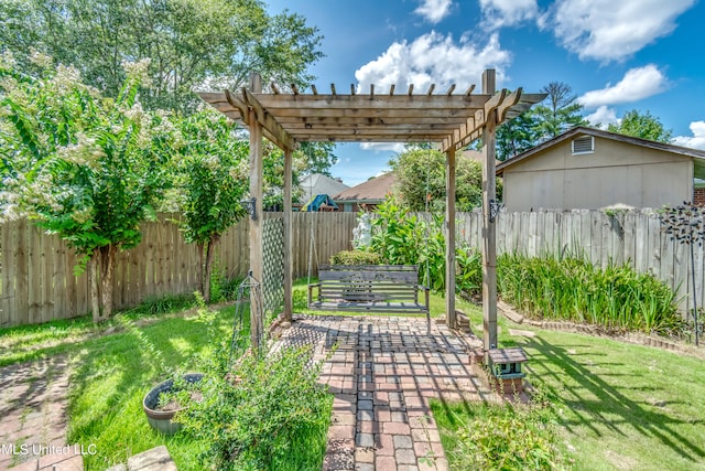
[[[419,291],[423,291],[423,302],[419,302]],[[351,312],[425,312],[429,319],[429,288],[419,285],[419,267],[415,265],[319,265],[318,282],[308,285],[308,308]]]

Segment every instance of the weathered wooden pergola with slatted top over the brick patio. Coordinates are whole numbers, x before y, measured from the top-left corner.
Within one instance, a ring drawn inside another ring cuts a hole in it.
[[[284,151],[284,319],[292,317],[292,153],[300,142],[435,142],[446,154],[446,322],[453,328],[455,311],[455,173],[456,151],[474,140],[482,139],[482,313],[484,346],[487,352],[497,345],[497,275],[495,217],[495,135],[496,127],[520,115],[545,98],[544,94],[496,93],[495,71],[482,73],[481,93],[475,85],[455,93],[452,85],[444,93],[434,93],[435,85],[414,94],[395,90],[392,85],[382,92],[370,86],[369,93],[339,94],[334,84],[329,94],[301,93],[296,86],[282,93],[271,85],[262,93],[258,74],[250,75],[249,87],[240,93],[224,90],[200,93],[200,97],[226,116],[243,122],[250,131],[250,196],[256,213],[262,214],[262,137]],[[250,220],[250,269],[261,280],[262,220]],[[252,329],[253,331],[256,329]],[[257,340],[253,339],[254,344]]]

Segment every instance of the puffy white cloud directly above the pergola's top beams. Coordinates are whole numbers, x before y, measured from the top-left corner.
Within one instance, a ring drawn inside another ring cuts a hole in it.
[[[501,49],[496,33],[480,46],[465,36],[454,42],[451,35],[432,31],[412,43],[393,43],[377,60],[358,68],[355,77],[360,90],[369,89],[370,84],[381,87],[393,84],[398,93],[405,93],[403,87],[413,84],[414,90],[423,93],[432,83],[440,89],[454,83],[460,88],[479,86],[477,81],[486,68],[495,68],[497,83],[501,83],[510,60],[511,54]]]

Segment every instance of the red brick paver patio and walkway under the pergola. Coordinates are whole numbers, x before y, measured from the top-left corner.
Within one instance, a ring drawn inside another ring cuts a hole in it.
[[[315,345],[335,394],[325,471],[446,470],[429,399],[479,400],[491,393],[473,373],[481,345],[424,318],[295,317],[278,346]]]

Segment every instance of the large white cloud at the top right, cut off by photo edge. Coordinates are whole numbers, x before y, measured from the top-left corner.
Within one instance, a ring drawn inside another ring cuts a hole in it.
[[[621,61],[670,34],[696,0],[557,0],[540,24],[581,58]]]

